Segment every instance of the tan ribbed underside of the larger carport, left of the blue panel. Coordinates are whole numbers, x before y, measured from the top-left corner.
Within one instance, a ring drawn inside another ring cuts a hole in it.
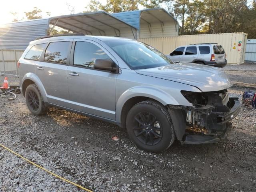
[[[134,26],[104,11],[51,17],[48,24],[53,25],[50,31],[58,26],[72,32],[88,35],[137,38],[137,29]]]

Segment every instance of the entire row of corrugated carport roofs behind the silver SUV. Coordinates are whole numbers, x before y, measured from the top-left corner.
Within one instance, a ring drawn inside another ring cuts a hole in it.
[[[137,29],[142,22],[169,22],[177,20],[163,8],[136,10],[108,14],[107,12],[88,12],[52,18],[13,22],[0,26],[0,49],[24,50],[30,41],[47,35],[49,24],[73,32],[90,35],[121,36],[137,38]],[[58,22],[56,22],[58,20]],[[178,24],[178,22],[177,22]],[[176,28],[177,29],[177,28]],[[178,29],[177,29],[178,30]]]

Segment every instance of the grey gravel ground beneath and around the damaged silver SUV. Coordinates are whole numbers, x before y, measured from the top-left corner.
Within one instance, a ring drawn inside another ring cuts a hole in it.
[[[252,75],[255,78],[255,72]],[[237,76],[244,76],[244,69]],[[244,88],[234,86],[229,92],[241,100]],[[205,145],[176,142],[154,154],[139,150],[124,129],[106,122],[56,108],[34,116],[19,94],[13,101],[0,97],[0,143],[98,192],[256,191],[256,110],[241,110],[227,140]],[[3,192],[82,191],[2,147],[0,164]]]

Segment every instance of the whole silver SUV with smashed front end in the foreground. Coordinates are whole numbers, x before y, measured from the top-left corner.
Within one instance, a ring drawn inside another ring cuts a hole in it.
[[[175,63],[136,40],[42,37],[18,62],[20,87],[35,115],[47,106],[126,128],[140,148],[160,152],[175,139],[203,144],[226,137],[240,111],[219,68]]]

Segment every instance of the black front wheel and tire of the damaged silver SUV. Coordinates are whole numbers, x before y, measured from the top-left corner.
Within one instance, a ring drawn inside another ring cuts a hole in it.
[[[126,118],[128,135],[138,148],[161,152],[172,145],[174,127],[168,111],[154,101],[134,105]]]

